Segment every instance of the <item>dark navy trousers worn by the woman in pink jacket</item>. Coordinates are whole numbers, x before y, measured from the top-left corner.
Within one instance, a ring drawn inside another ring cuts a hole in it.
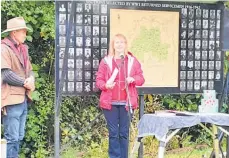
[[[109,131],[109,158],[128,158],[129,117],[125,106],[103,110]]]

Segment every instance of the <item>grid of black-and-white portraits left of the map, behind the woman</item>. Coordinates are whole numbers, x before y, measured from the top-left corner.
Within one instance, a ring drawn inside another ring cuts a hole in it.
[[[72,2],[59,2],[59,76],[66,47],[66,26]],[[96,71],[108,51],[108,18],[106,4],[77,2],[68,50],[64,93],[90,93],[95,87]]]

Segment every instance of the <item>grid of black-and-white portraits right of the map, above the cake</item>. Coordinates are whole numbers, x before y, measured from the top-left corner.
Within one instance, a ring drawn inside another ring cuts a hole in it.
[[[221,10],[181,9],[180,91],[215,89],[222,80]]]

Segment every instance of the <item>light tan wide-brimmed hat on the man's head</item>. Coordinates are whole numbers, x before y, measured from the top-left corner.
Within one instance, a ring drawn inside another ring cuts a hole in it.
[[[31,29],[26,26],[23,17],[16,17],[7,21],[7,29],[2,31],[2,33],[20,29],[27,29],[28,31],[31,31]]]

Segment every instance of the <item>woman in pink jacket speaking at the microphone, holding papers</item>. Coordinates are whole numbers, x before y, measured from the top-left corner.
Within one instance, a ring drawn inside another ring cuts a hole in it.
[[[126,37],[115,35],[110,42],[109,54],[101,60],[96,76],[96,86],[102,91],[100,107],[109,131],[110,158],[128,157],[128,105],[132,109],[138,107],[136,86],[144,82],[141,64],[127,51]]]

